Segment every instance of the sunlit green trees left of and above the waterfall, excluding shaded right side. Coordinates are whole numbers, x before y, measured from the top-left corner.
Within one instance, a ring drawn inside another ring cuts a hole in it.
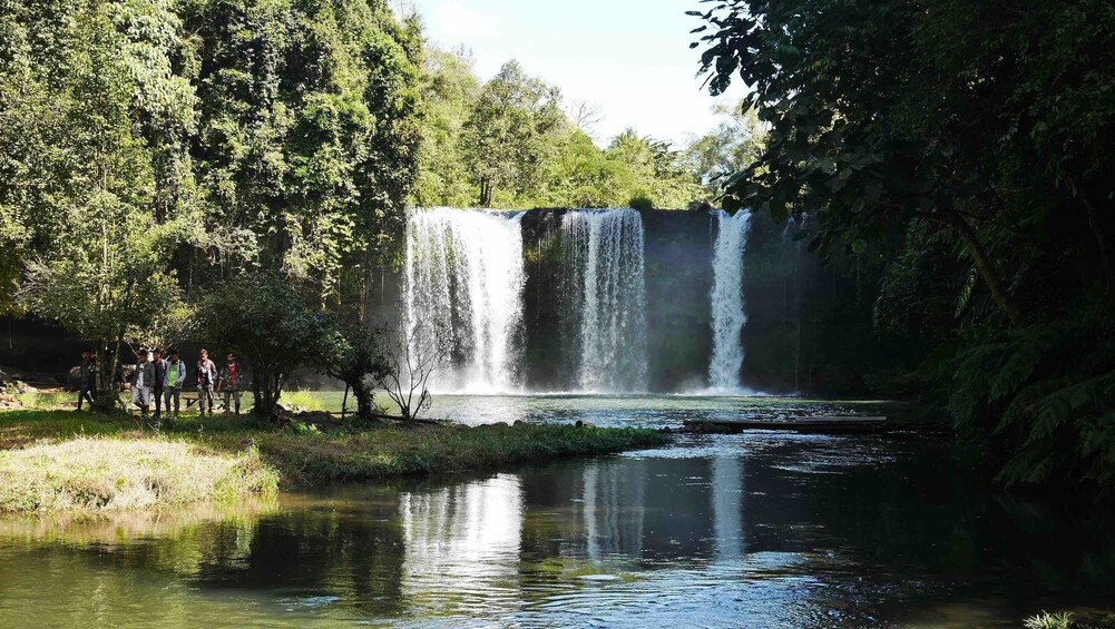
[[[0,311],[93,342],[104,405],[184,340],[241,349],[262,412],[295,367],[352,376],[407,204],[685,207],[753,130],[600,148],[592,106],[386,0],[10,2],[0,36]]]

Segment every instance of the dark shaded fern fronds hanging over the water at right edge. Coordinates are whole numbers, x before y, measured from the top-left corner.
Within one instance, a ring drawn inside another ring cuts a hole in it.
[[[1115,478],[1115,332],[1092,312],[972,328],[942,351],[937,374],[957,433],[1005,485]]]

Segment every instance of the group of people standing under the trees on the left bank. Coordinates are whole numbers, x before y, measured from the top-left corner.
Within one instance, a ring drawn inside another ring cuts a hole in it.
[[[137,357],[135,370],[125,380],[125,389],[132,391],[132,404],[147,417],[154,400],[154,418],[157,420],[163,418],[164,408],[167,415],[172,415],[173,401],[173,417],[177,418],[182,388],[187,376],[185,361],[178,358],[175,349],[169,350],[166,358],[159,349],[140,349]],[[81,410],[83,401],[88,400],[93,405],[93,393],[96,390],[96,367],[93,354],[88,350],[81,352],[79,377],[81,381],[77,409]],[[214,391],[224,394],[225,413],[235,412],[240,415],[240,396],[246,384],[245,372],[236,362],[235,355],[230,354],[225,365],[219,370],[210,359],[209,350],[201,350],[194,369],[194,385],[197,387],[197,408],[202,415],[209,412],[210,417],[213,416]]]

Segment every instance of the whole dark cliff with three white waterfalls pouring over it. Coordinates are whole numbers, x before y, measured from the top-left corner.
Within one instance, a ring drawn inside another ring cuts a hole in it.
[[[409,215],[380,317],[447,339],[435,393],[888,396],[920,360],[874,328],[879,270],[803,225],[718,211]]]

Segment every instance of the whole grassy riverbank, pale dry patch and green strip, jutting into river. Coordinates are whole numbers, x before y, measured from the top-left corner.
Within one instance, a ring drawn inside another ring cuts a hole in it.
[[[534,424],[297,433],[245,418],[196,416],[164,425],[156,435],[127,416],[12,410],[0,413],[0,474],[6,477],[0,512],[183,504],[273,492],[275,482],[297,487],[476,472],[668,439],[649,429]],[[230,474],[240,482],[231,482]]]

